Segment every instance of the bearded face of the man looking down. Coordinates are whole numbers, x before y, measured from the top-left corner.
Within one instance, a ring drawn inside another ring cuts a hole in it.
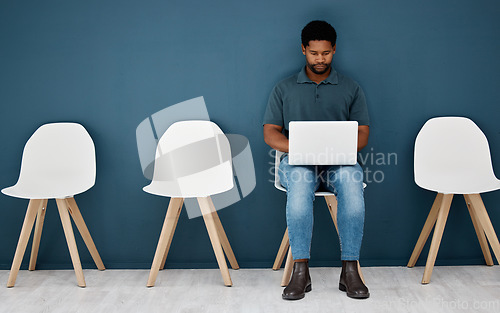
[[[309,45],[302,45],[302,53],[306,56],[307,67],[318,75],[325,74],[332,67],[332,59],[336,45],[327,40],[311,40]]]

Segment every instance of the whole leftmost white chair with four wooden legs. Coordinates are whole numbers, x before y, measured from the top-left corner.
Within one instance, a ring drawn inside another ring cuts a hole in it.
[[[36,219],[29,270],[35,270],[38,247],[48,199],[55,198],[68,243],[78,286],[85,287],[82,266],[68,212],[80,231],[97,265],[104,264],[76,205],[74,195],[90,189],[95,182],[95,149],[90,135],[76,123],[51,123],[40,126],[26,143],[19,180],[2,193],[30,199],[7,287],[13,287],[28,239]]]

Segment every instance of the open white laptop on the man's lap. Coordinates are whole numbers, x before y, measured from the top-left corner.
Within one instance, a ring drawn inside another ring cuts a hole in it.
[[[289,124],[290,165],[354,165],[358,122],[293,121]]]

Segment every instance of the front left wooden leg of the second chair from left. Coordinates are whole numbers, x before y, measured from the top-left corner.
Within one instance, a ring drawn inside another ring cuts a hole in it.
[[[165,221],[163,222],[163,227],[161,229],[160,239],[158,240],[158,246],[156,247],[155,256],[153,258],[153,264],[151,265],[151,271],[149,272],[149,278],[146,285],[148,287],[153,287],[155,285],[161,262],[163,261],[163,257],[167,254],[168,243],[174,235],[173,233],[177,224],[177,217],[182,208],[183,201],[184,199],[182,198],[170,199]]]

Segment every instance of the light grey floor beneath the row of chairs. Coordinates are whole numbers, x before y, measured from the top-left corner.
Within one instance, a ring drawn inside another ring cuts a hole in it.
[[[0,312],[500,312],[499,266],[435,267],[421,285],[423,267],[364,267],[367,300],[338,290],[340,268],[312,268],[313,290],[298,301],[281,299],[283,270],[230,270],[225,287],[219,270],[160,271],[146,287],[148,270],[84,270],[86,288],[73,271],[20,271],[14,288],[3,287]]]

